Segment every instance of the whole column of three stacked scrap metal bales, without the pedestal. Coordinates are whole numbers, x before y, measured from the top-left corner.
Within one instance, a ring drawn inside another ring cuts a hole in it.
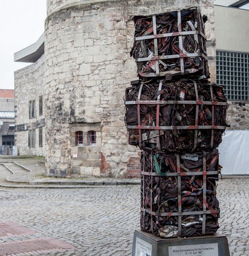
[[[142,151],[141,230],[213,234],[227,99],[207,80],[206,16],[194,7],[133,20],[139,81],[124,99],[128,143]]]

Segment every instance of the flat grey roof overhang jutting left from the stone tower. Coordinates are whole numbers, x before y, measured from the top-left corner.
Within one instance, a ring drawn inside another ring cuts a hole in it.
[[[44,39],[45,32],[35,44],[14,53],[14,61],[35,63],[44,54]]]

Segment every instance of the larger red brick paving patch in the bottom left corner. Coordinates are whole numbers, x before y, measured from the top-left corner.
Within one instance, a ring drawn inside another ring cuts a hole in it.
[[[73,245],[52,237],[27,239],[23,241],[3,242],[0,244],[0,256],[34,255],[49,252],[64,252],[77,249]]]

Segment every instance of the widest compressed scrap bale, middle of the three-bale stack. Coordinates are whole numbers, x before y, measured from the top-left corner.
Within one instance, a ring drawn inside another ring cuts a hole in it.
[[[147,151],[217,148],[226,109],[223,86],[217,84],[191,79],[141,82],[125,96],[128,142]]]

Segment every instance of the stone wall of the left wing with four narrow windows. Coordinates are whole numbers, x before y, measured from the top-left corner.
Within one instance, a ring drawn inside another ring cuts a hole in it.
[[[44,55],[36,63],[15,71],[15,145],[19,155],[45,155],[39,147],[39,128],[45,143],[44,114],[39,116],[39,96],[44,94]],[[35,118],[29,118],[29,101],[35,100]],[[43,97],[43,113],[45,109]],[[26,128],[27,127],[27,128]],[[26,128],[26,130],[25,130]],[[28,130],[35,129],[35,147],[28,146]]]

